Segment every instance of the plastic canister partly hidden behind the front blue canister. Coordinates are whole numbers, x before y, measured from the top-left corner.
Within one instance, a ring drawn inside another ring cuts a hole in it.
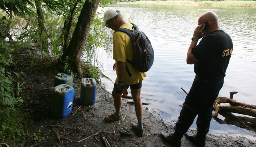
[[[65,73],[58,73],[54,78],[54,87],[60,84],[68,84],[73,86],[73,76]]]

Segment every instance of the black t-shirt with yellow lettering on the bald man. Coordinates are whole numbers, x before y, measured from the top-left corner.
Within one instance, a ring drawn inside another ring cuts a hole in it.
[[[224,78],[232,51],[230,36],[222,30],[213,31],[192,48],[192,54],[198,60],[194,72],[206,79]]]

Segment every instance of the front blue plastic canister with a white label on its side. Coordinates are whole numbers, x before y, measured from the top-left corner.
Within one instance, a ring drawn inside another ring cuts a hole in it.
[[[53,116],[64,118],[73,109],[74,88],[68,84],[60,84],[52,91],[51,112]]]

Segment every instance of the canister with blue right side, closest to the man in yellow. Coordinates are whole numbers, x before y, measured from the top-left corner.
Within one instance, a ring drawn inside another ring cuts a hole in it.
[[[94,105],[96,101],[96,80],[82,78],[80,88],[80,102],[82,105]]]

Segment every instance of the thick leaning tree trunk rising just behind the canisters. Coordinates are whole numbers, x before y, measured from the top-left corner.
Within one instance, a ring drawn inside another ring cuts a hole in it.
[[[58,62],[60,65],[63,65],[62,63],[65,63],[66,58],[68,58],[68,65],[73,72],[78,73],[78,76],[82,74],[80,59],[98,4],[99,0],[92,0],[92,2],[89,2],[89,0],[85,1],[70,44],[66,51],[63,52]]]

